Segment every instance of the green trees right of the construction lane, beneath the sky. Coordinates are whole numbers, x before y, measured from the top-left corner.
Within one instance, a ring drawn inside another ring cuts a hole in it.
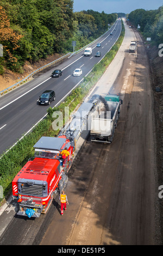
[[[140,31],[145,38],[151,38],[153,44],[163,43],[163,5],[156,10],[137,9],[131,11],[128,19],[135,27],[140,25]]]

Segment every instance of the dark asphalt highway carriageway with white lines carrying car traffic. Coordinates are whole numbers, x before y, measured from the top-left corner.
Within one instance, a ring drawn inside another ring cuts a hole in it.
[[[112,33],[112,35],[110,35]],[[104,56],[110,51],[112,45],[121,33],[121,20],[117,20],[107,33],[91,45],[92,55],[84,56],[83,51],[74,54],[71,58],[52,69],[37,76],[32,81],[20,88],[1,96],[0,100],[0,155],[12,147],[22,135],[32,130],[32,127],[47,114],[49,106],[37,105],[37,100],[46,89],[55,91],[55,101],[51,107],[57,106],[64,98],[76,88]],[[96,47],[101,42],[101,47]],[[97,51],[101,51],[101,57],[95,57]],[[83,74],[80,77],[73,77],[73,71],[81,68]],[[59,78],[52,78],[54,69],[61,69],[63,75]]]

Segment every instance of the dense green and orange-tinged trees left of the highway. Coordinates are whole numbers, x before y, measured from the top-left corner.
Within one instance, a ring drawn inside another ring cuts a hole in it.
[[[0,0],[0,74],[4,66],[23,72],[53,53],[72,51],[72,41],[81,48],[108,29],[118,15],[93,10],[73,12],[72,0]]]

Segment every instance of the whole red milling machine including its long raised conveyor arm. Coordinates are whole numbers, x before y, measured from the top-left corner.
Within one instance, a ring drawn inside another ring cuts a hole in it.
[[[35,156],[29,159],[12,181],[12,197],[18,199],[17,215],[39,217],[46,213],[54,193],[61,193],[67,184],[76,143],[97,101],[84,102],[58,137],[41,137],[34,145]],[[66,160],[60,156],[67,148]]]

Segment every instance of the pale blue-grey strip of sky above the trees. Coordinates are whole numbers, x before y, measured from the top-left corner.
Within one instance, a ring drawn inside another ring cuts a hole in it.
[[[73,10],[93,10],[105,14],[129,14],[136,9],[155,10],[163,5],[163,0],[73,0]]]

